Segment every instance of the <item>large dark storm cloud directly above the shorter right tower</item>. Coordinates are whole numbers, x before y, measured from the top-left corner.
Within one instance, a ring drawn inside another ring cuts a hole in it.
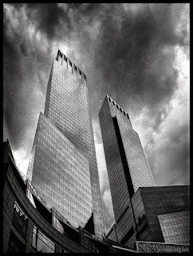
[[[120,104],[125,106],[134,96],[143,101],[143,106],[159,110],[175,91],[174,49],[165,54],[163,50],[183,45],[183,35],[175,34],[171,8],[145,5],[133,13],[113,5],[103,19],[94,66],[100,70],[109,94]]]

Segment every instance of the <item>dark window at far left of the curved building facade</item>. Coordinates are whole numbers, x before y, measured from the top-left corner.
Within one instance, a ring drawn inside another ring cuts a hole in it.
[[[14,202],[14,216],[12,223],[22,237],[26,238],[28,217],[16,201]]]

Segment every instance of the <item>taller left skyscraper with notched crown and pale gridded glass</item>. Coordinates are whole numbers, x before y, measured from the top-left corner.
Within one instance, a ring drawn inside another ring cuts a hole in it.
[[[58,50],[49,76],[27,177],[47,206],[73,226],[104,234],[85,74]],[[93,226],[92,227],[92,222]]]

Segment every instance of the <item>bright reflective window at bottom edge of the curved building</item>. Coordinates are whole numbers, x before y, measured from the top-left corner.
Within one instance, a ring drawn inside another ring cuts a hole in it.
[[[32,246],[41,253],[54,253],[55,243],[33,225]]]

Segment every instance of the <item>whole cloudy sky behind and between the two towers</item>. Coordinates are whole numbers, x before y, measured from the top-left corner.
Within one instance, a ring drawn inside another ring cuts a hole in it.
[[[189,4],[4,4],[3,138],[26,174],[53,59],[87,75],[106,230],[113,212],[98,113],[105,94],[140,135],[156,186],[189,183]]]

